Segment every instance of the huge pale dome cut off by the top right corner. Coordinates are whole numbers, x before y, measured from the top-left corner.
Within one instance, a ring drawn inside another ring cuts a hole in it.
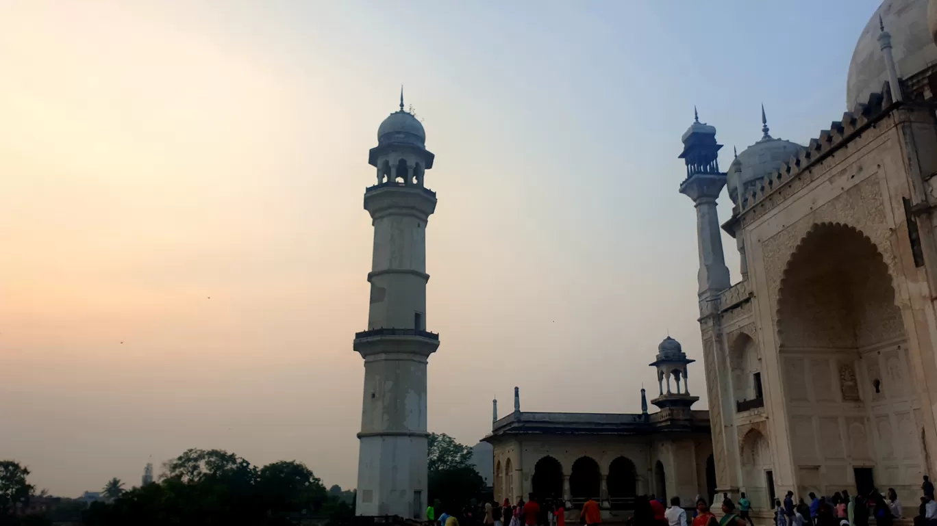
[[[931,11],[937,7],[931,8]],[[928,29],[928,0],[885,0],[872,14],[855,44],[846,81],[846,110],[866,103],[869,95],[882,91],[888,80],[885,58],[879,47],[879,16],[891,34],[892,56],[898,76],[907,79],[927,66],[937,64],[937,46]]]

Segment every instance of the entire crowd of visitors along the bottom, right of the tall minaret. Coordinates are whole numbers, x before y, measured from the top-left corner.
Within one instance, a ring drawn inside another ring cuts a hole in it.
[[[921,485],[923,496],[914,516],[915,526],[937,526],[937,501],[934,486],[925,476]],[[905,515],[898,492],[889,488],[885,493],[873,489],[868,493],[850,495],[849,491],[837,491],[831,497],[808,494],[810,502],[798,499],[794,502],[793,491],[788,491],[783,501],[774,502],[776,526],[869,526],[874,519],[876,526],[892,526],[895,519]],[[633,515],[628,519],[630,526],[754,526],[751,520],[751,501],[744,492],[738,505],[722,493],[721,517],[712,513],[706,499],[696,497],[693,508],[680,505],[679,497],[670,499],[664,506],[654,495],[642,495],[634,500]],[[477,504],[474,500],[464,509],[447,510],[439,502],[426,509],[427,526],[566,526],[566,504],[559,499],[537,499],[529,495],[527,502],[519,499],[511,504]],[[688,513],[690,516],[688,516]],[[460,522],[461,521],[461,522]],[[583,504],[579,513],[581,526],[599,526],[602,513],[593,499]]]

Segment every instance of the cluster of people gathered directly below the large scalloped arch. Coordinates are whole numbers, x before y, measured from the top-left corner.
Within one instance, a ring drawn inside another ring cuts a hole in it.
[[[837,491],[831,497],[808,494],[810,503],[804,499],[794,502],[794,492],[788,491],[784,501],[775,500],[775,524],[777,526],[869,526],[874,519],[877,526],[892,526],[895,519],[914,517],[915,526],[937,526],[937,502],[934,501],[934,485],[927,475],[921,484],[920,504],[917,514],[905,514],[898,492],[889,488],[885,493],[872,489],[865,494],[851,496],[848,490]],[[744,496],[744,493],[743,493]]]

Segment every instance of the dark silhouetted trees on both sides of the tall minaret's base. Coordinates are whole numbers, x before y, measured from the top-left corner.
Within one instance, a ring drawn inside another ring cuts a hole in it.
[[[430,502],[453,511],[481,499],[484,482],[471,463],[472,450],[446,434],[431,433],[428,451]],[[0,460],[0,526],[44,526],[53,521],[85,526],[286,526],[304,519],[330,524],[354,516],[355,493],[325,489],[302,462],[281,460],[262,467],[220,449],[188,449],[163,464],[159,480],[124,489],[112,478],[104,501],[86,505],[63,500],[37,513],[30,502],[45,496],[28,481],[29,470]]]

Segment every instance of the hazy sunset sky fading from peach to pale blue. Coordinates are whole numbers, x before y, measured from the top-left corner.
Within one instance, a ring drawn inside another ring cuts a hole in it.
[[[475,444],[514,386],[639,411],[665,336],[702,358],[693,106],[723,168],[762,103],[807,143],[877,4],[0,4],[0,459],[64,496],[189,447],[353,488],[367,151],[401,84],[436,153],[429,431]]]

